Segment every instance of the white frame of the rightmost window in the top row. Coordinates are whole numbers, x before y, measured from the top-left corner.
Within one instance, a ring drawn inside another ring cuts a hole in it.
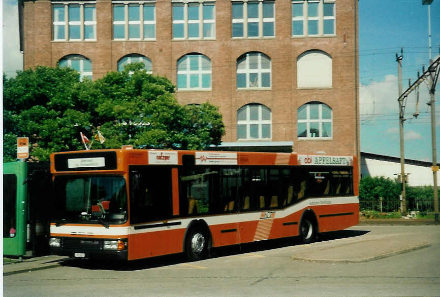
[[[318,3],[318,16],[310,17],[308,16],[308,4]],[[324,4],[332,3],[333,4],[333,16],[324,17]],[[322,37],[322,36],[336,36],[336,1],[335,0],[293,0],[293,4],[302,4],[303,15],[302,17],[294,17],[292,16],[292,37]],[[292,13],[292,8],[291,8]],[[308,33],[308,21],[318,21],[318,33],[317,34],[309,34]],[[333,33],[324,34],[324,20],[333,20]],[[294,34],[293,31],[293,22],[294,21],[302,21],[303,32],[302,34]]]

